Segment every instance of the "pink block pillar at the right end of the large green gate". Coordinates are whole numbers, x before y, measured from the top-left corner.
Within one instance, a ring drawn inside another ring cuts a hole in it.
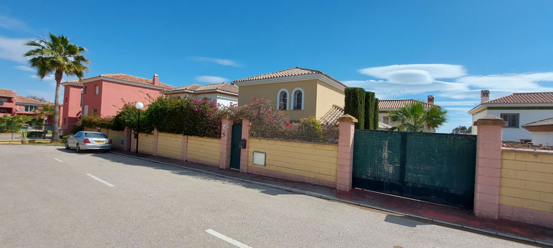
[[[474,215],[497,219],[501,177],[501,132],[502,128],[507,126],[507,121],[487,115],[475,121],[474,126],[478,126]]]

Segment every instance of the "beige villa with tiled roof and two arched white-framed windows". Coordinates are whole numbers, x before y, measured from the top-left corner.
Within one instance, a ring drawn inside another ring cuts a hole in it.
[[[237,79],[232,83],[240,88],[238,104],[267,97],[294,120],[307,116],[321,118],[333,106],[343,107],[344,89],[347,88],[324,72],[300,67]]]

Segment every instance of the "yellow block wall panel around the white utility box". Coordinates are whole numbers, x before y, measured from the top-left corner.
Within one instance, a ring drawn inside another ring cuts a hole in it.
[[[248,139],[248,165],[336,182],[338,145]],[[253,152],[265,153],[265,166],[253,164]]]

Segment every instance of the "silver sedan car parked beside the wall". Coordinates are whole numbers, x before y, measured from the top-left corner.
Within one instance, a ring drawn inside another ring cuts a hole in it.
[[[74,136],[70,136],[67,138],[67,141],[65,141],[65,149],[75,148],[77,153],[82,150],[102,150],[103,152],[109,152],[111,145],[111,139],[109,139],[106,134],[100,132],[77,132]]]

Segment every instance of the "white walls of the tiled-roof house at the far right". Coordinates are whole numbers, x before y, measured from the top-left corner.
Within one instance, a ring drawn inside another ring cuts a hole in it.
[[[532,133],[520,127],[530,122],[544,120],[553,117],[553,110],[484,110],[477,115],[472,116],[472,120],[476,121],[486,115],[501,117],[501,114],[519,114],[518,127],[503,127],[503,141],[517,141],[520,139],[532,139]],[[472,127],[472,133],[477,134],[477,128]],[[533,141],[534,142],[534,141]]]

